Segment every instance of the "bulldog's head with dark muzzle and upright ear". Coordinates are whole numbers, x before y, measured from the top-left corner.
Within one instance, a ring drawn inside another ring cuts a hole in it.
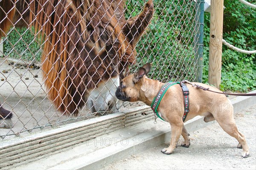
[[[146,63],[143,67],[140,67],[136,73],[122,79],[120,86],[116,89],[116,98],[121,101],[139,101],[142,79],[143,76],[149,72],[150,68],[151,64]]]

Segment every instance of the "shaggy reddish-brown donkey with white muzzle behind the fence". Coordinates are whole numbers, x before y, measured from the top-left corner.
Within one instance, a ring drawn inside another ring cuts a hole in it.
[[[125,20],[125,0],[1,0],[0,37],[11,26],[40,33],[44,85],[64,114],[115,105],[119,79],[135,63],[135,46],[154,14],[152,0]]]

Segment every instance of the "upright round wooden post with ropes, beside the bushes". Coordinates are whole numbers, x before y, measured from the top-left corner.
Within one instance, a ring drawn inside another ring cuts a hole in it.
[[[222,32],[224,0],[211,0],[208,83],[221,84]]]

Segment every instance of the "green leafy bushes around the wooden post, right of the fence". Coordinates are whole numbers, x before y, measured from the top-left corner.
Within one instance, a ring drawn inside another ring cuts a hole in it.
[[[250,2],[250,1],[248,1]],[[251,3],[253,1],[251,0]],[[255,50],[256,10],[237,0],[225,0],[223,39],[246,50]],[[209,23],[210,14],[204,20],[204,70],[203,81],[208,81]],[[244,54],[223,46],[221,90],[248,92],[256,88],[255,54]]]

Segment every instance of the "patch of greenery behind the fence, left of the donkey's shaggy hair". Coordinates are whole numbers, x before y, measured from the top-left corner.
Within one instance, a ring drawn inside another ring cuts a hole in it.
[[[38,42],[41,41],[35,38],[32,32],[35,32],[34,28],[11,29],[4,40],[4,55],[10,58],[40,61],[41,45]]]

